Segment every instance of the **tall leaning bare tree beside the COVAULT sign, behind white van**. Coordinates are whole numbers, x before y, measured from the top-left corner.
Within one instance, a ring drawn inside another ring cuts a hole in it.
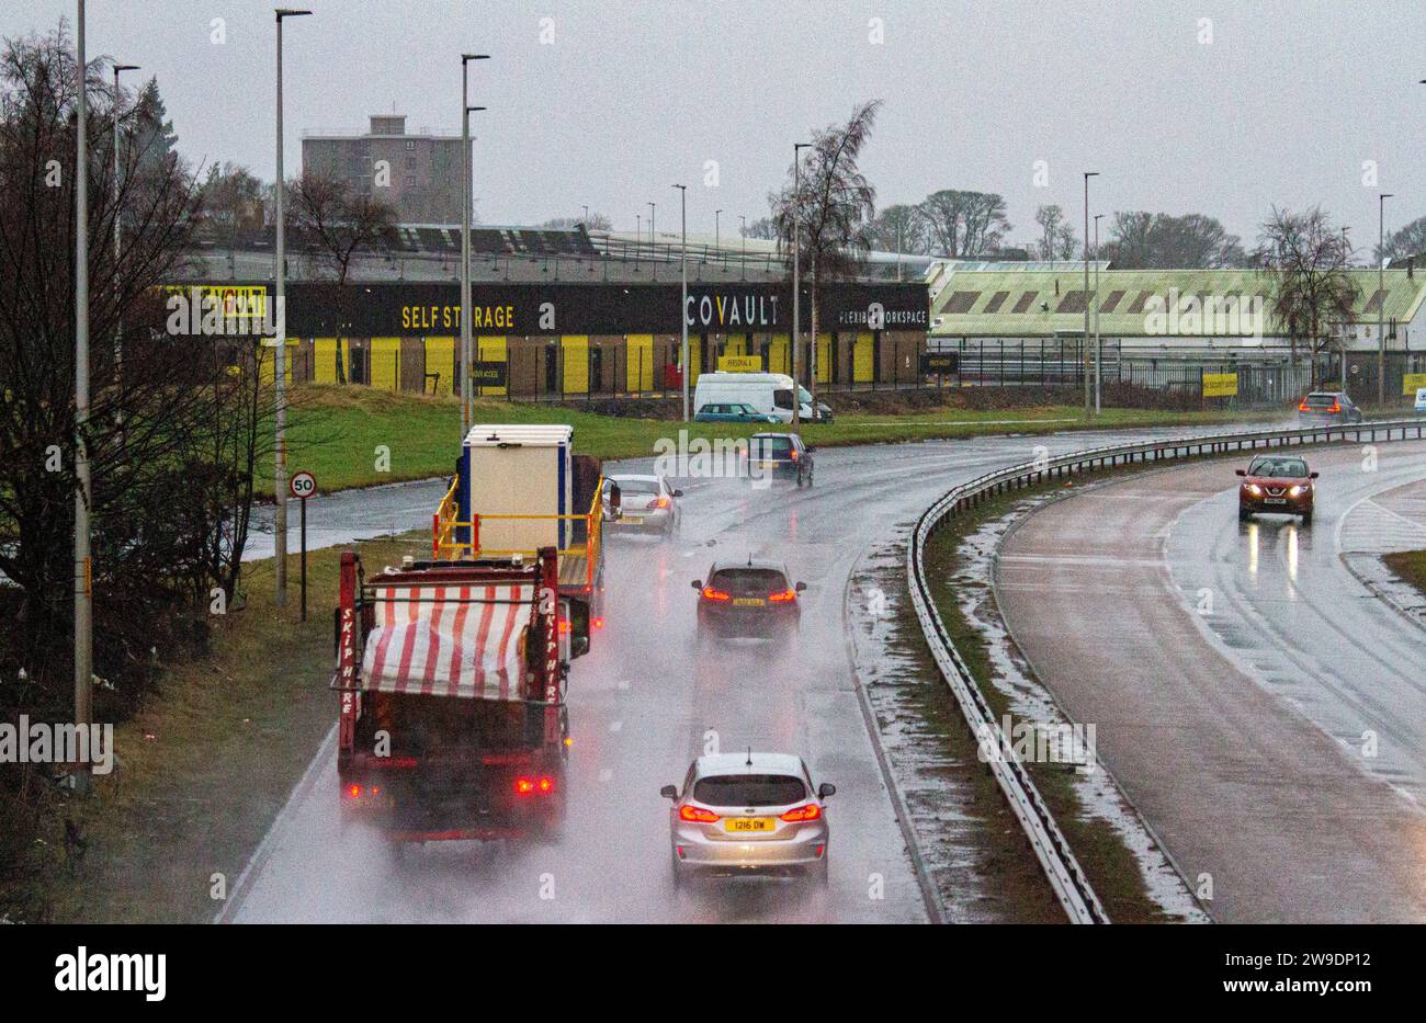
[[[820,284],[854,276],[871,248],[877,191],[857,167],[857,160],[871,138],[880,108],[881,100],[868,100],[853,111],[846,124],[814,131],[811,147],[803,155],[801,172],[793,174],[790,170],[783,189],[767,197],[777,224],[779,245],[789,254],[789,262],[796,225],[801,241],[799,258],[811,269],[813,355],[809,363],[809,390],[814,395]],[[794,338],[793,343],[796,342]]]

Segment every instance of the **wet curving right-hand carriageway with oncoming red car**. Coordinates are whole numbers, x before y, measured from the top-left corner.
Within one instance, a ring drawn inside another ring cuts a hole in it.
[[[1215,919],[1426,920],[1426,633],[1352,568],[1422,546],[1426,445],[1303,453],[1312,526],[1239,524],[1229,462],[1044,506],[1001,613]]]

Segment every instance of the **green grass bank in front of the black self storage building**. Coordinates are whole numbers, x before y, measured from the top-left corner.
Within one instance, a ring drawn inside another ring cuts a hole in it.
[[[907,409],[898,413],[838,415],[830,425],[806,425],[809,443],[844,445],[894,443],[975,437],[987,435],[1038,435],[1078,429],[1132,429],[1145,426],[1204,426],[1212,423],[1271,422],[1286,415],[1272,412],[1171,412],[1161,409],[1104,409],[1091,423],[1074,405],[1007,405],[1005,407],[961,407],[957,392],[945,392],[945,405]],[[1022,400],[1022,395],[1018,400]],[[633,399],[637,402],[639,399]],[[1010,396],[1007,396],[1010,400]],[[607,405],[592,405],[602,407]],[[482,398],[475,402],[478,422],[568,423],[575,427],[582,453],[605,459],[636,459],[656,455],[660,437],[689,439],[747,437],[773,425],[682,423],[659,417],[602,415],[570,405],[535,405]],[[453,472],[461,440],[461,402],[448,395],[408,395],[374,390],[359,385],[301,385],[292,392],[288,416],[288,469],[317,476],[322,492],[395,483],[399,480],[448,476]],[[270,493],[272,466],[260,466],[258,490]]]

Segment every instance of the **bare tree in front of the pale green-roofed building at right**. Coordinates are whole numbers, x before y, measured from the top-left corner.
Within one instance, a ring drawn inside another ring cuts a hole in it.
[[[1258,237],[1255,262],[1269,281],[1272,318],[1292,346],[1312,356],[1312,385],[1333,331],[1350,323],[1360,289],[1349,272],[1352,245],[1320,207],[1301,214],[1272,208]],[[1340,335],[1338,335],[1340,336]]]

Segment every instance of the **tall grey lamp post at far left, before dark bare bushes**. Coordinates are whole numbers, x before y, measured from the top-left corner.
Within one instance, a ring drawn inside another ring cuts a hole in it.
[[[93,717],[94,597],[90,561],[88,442],[88,63],[84,56],[84,0],[78,0],[76,31],[78,100],[74,162],[74,724]],[[90,765],[74,765],[77,792],[88,792]]]

